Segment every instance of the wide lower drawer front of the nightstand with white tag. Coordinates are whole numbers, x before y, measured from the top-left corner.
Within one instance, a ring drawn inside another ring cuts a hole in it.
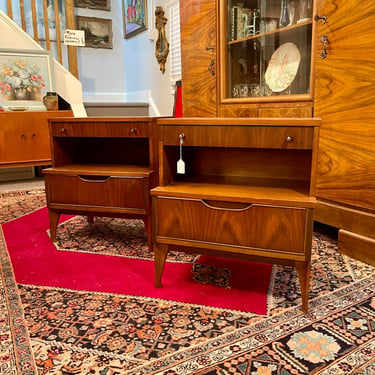
[[[305,222],[304,208],[158,197],[155,234],[303,254]]]

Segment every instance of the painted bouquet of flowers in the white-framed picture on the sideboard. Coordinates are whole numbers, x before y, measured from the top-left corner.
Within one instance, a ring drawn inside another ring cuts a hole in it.
[[[15,59],[0,66],[0,95],[7,100],[41,100],[45,88],[36,64]]]

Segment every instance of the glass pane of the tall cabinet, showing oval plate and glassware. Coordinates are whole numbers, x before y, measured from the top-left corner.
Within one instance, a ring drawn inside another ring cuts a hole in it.
[[[225,97],[309,94],[313,0],[227,2]]]

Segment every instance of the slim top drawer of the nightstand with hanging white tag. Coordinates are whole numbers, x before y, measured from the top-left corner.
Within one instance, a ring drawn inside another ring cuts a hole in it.
[[[314,127],[302,126],[163,126],[164,145],[312,149]]]

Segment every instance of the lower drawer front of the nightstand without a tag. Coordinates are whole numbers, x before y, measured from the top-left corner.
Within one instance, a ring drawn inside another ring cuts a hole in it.
[[[45,181],[50,203],[124,209],[148,207],[146,178],[45,175]]]

